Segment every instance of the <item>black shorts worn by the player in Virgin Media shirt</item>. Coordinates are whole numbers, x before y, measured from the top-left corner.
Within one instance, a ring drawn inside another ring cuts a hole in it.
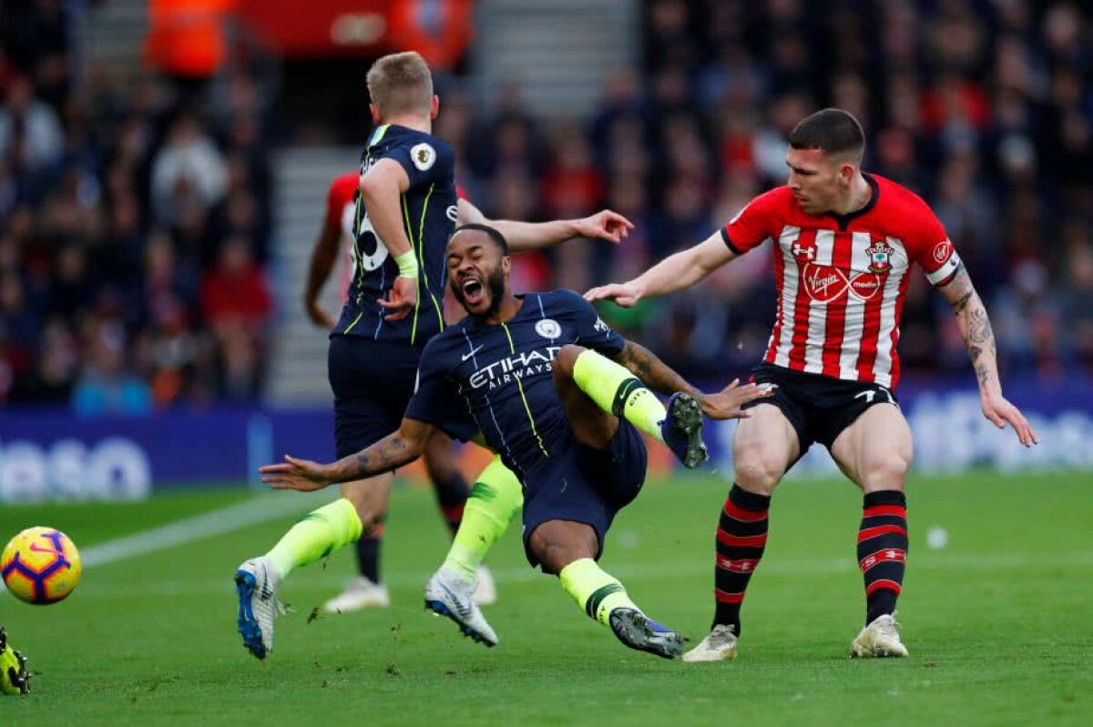
[[[751,380],[760,384],[775,384],[774,393],[741,408],[760,404],[777,406],[797,432],[800,456],[804,456],[813,442],[820,442],[830,451],[843,430],[870,406],[900,406],[895,394],[880,384],[791,371],[773,364],[752,369]]]

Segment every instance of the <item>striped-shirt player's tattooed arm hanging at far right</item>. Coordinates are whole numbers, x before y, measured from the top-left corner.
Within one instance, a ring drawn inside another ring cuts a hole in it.
[[[956,326],[964,337],[964,347],[975,367],[975,377],[979,382],[979,400],[983,415],[996,427],[1004,429],[1009,422],[1016,432],[1018,439],[1025,446],[1038,444],[1039,439],[1032,426],[1025,420],[1021,410],[1002,396],[1002,382],[998,377],[998,356],[995,346],[995,332],[990,327],[987,309],[972,285],[972,278],[963,264],[953,275],[953,279],[939,288],[953,312],[956,314]]]

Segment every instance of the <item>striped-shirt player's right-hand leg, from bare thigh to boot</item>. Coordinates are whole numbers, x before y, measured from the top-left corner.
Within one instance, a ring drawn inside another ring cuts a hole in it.
[[[866,585],[866,627],[850,656],[906,656],[895,622],[895,605],[907,557],[904,488],[913,457],[910,428],[898,407],[866,409],[832,444],[839,468],[865,493],[858,529],[858,563]]]

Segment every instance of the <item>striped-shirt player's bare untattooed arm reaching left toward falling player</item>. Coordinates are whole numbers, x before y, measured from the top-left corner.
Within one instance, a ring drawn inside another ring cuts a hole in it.
[[[736,254],[717,231],[693,248],[665,258],[633,281],[592,288],[585,294],[585,299],[614,300],[630,308],[642,298],[690,288],[733,258]]]

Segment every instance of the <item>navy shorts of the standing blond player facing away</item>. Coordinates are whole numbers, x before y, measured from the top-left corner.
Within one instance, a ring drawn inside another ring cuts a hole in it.
[[[334,393],[338,458],[399,428],[413,396],[421,347],[360,336],[330,336],[327,376]]]

